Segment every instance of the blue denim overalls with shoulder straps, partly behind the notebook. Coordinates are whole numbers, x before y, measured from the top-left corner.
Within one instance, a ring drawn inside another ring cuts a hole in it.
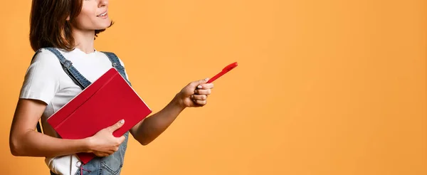
[[[71,63],[70,60],[67,60],[56,48],[45,48],[48,51],[51,51],[56,55],[58,60],[60,61],[60,64],[63,67],[63,70],[65,70],[65,73],[67,73],[71,79],[73,79],[74,83],[76,83],[80,88],[85,89],[90,85],[90,81],[87,80],[83,75],[81,75],[78,70],[76,70],[73,66],[73,63]],[[120,60],[117,58],[117,55],[114,53],[109,52],[102,52],[107,55],[107,57],[110,59],[112,63],[112,67],[116,68],[117,71],[122,75],[123,78],[127,81],[127,83],[130,84],[129,80],[126,78],[125,74],[125,68],[120,64]],[[38,125],[38,129],[40,126]],[[39,130],[40,131],[40,130]],[[127,139],[129,132],[126,132],[125,134],[125,141],[120,144],[119,150],[115,152],[114,154],[111,154],[108,157],[95,157],[91,161],[88,162],[88,164],[80,164],[81,162],[78,161],[77,165],[72,166],[78,166],[79,169],[76,172],[76,174],[97,174],[97,175],[110,175],[110,174],[120,174],[120,171],[122,170],[123,161],[125,158],[125,152],[127,147]],[[51,171],[51,175],[55,175]]]

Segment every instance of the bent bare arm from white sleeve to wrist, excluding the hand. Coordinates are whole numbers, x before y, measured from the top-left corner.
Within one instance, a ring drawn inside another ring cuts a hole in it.
[[[9,137],[15,156],[56,157],[76,152],[89,152],[88,139],[58,139],[36,132],[36,124],[46,104],[38,100],[18,101]]]

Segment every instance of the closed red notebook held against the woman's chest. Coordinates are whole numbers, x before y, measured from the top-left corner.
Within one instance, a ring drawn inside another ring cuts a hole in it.
[[[83,139],[124,119],[125,124],[113,132],[120,137],[151,112],[122,75],[111,68],[49,117],[48,123],[63,139]],[[87,164],[95,154],[77,156]]]

